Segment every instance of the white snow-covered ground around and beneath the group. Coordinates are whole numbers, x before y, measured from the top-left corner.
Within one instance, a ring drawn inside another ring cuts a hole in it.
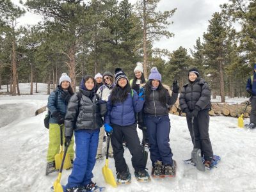
[[[43,124],[46,111],[34,116],[36,109],[47,104],[48,95],[44,95],[46,88],[44,92],[43,90],[44,88],[40,93],[42,95],[0,96],[0,191],[51,191],[50,188],[58,177],[58,173],[45,176],[49,142],[49,131]],[[256,191],[256,130],[237,127],[237,118],[211,116],[209,134],[212,148],[214,154],[221,156],[221,161],[218,168],[199,172],[182,162],[183,159],[190,158],[193,148],[186,118],[175,115],[170,115],[170,118],[170,145],[173,159],[177,161],[175,178],[138,182],[134,179],[131,155],[125,149],[125,159],[132,173],[131,184],[118,188],[105,184],[101,172],[104,161],[95,165],[93,181],[99,186],[106,186],[106,191],[116,192]],[[244,122],[248,123],[248,119]],[[140,129],[138,134],[141,139]],[[113,159],[109,159],[109,168],[115,175]],[[148,171],[152,168],[149,158],[147,168]],[[63,171],[61,184],[67,183],[70,172],[71,170]]]

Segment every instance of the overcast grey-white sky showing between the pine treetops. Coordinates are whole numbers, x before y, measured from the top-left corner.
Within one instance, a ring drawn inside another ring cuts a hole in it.
[[[12,0],[13,3],[19,4],[19,0]],[[136,0],[129,0],[132,4]],[[172,10],[177,8],[170,21],[174,23],[169,26],[168,30],[175,36],[170,39],[162,39],[154,42],[154,47],[175,51],[180,46],[185,47],[188,51],[193,48],[196,39],[207,30],[209,20],[214,12],[220,12],[220,4],[228,3],[228,0],[161,0],[158,10]],[[40,16],[32,13],[20,18],[20,24],[36,24]]]

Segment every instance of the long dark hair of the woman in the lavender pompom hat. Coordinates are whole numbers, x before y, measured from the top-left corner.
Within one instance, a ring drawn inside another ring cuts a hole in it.
[[[145,95],[146,95],[146,102],[149,102],[149,96],[151,93],[152,88],[152,79],[148,80],[148,82],[145,84]],[[159,86],[157,87],[157,90],[159,92],[159,101],[161,104],[166,105],[166,89],[164,88],[161,81],[159,81]]]

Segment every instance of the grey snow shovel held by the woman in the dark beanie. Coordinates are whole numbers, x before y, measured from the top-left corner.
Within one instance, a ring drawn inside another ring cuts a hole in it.
[[[191,124],[192,124],[193,145],[195,147],[196,138],[195,138],[195,131],[194,131],[194,117],[192,117]],[[200,148],[193,148],[193,150],[191,152],[191,161],[193,163],[195,163],[195,166],[198,170],[200,170],[201,172],[205,171],[205,166],[204,166],[204,163],[202,161],[201,149]]]

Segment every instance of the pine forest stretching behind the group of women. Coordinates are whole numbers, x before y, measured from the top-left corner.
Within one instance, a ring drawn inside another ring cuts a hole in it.
[[[246,96],[245,84],[256,62],[256,1],[221,4],[193,49],[180,46],[173,52],[153,48],[154,42],[174,35],[168,26],[177,8],[160,12],[159,1],[20,1],[25,10],[0,0],[0,89],[7,84],[6,92],[19,95],[19,83],[30,82],[33,94],[33,82],[56,87],[67,72],[75,90],[84,74],[121,67],[132,78],[141,62],[145,77],[156,66],[168,85],[174,79],[184,85],[188,68],[197,67],[213,99]],[[20,26],[17,19],[26,12],[43,20]]]

